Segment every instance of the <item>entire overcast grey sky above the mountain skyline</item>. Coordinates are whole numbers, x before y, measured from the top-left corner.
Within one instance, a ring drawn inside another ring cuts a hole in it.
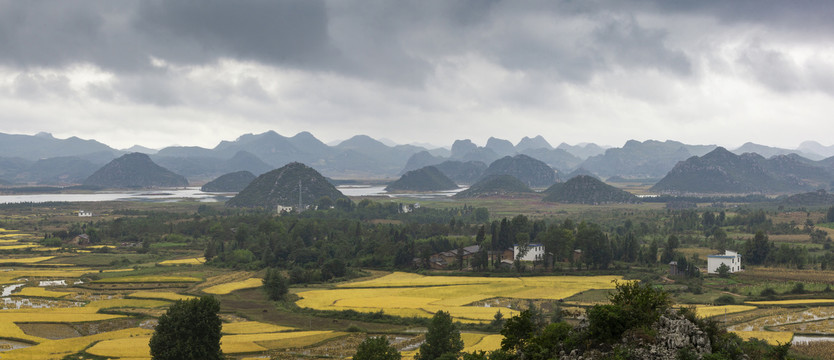
[[[0,132],[831,145],[834,2],[0,0]]]

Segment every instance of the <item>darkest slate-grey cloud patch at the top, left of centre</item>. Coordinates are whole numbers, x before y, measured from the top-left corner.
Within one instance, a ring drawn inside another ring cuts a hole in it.
[[[229,57],[315,68],[338,56],[315,0],[145,1],[133,25],[166,43],[154,44],[159,57],[183,63]]]

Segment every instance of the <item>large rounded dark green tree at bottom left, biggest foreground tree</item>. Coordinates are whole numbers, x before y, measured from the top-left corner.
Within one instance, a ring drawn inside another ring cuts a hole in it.
[[[211,296],[175,302],[159,317],[151,337],[153,359],[222,359],[218,311],[220,302]]]

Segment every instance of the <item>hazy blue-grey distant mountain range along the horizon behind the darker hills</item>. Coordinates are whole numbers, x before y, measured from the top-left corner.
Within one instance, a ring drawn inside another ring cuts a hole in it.
[[[553,147],[542,136],[525,137],[515,145],[495,137],[490,138],[484,146],[461,139],[455,141],[450,149],[428,149],[415,145],[392,146],[390,142],[386,144],[369,136],[357,135],[331,146],[308,132],[287,137],[268,131],[245,134],[233,141],[222,141],[214,148],[172,146],[157,151],[135,146],[129,150],[148,154],[154,163],[196,184],[238,171],[249,171],[257,176],[291,162],[308,164],[333,179],[391,179],[432,165],[457,184],[474,184],[484,176],[494,174],[489,167],[496,161],[518,156],[545,164],[545,167],[537,170],[539,174],[535,176],[551,172],[549,168],[555,170],[556,179],[589,175],[602,179],[654,183],[669,175],[671,177],[655,188],[664,192],[811,191],[816,190],[815,187],[830,189],[834,180],[827,177],[828,170],[814,170],[834,169],[834,146],[804,142],[798,149],[783,149],[747,143],[738,149],[724,151],[755,162],[758,164],[756,166],[761,167],[758,174],[770,178],[729,176],[724,180],[711,178],[713,180],[698,186],[684,186],[687,181],[683,178],[690,176],[685,174],[696,176],[697,172],[684,174],[682,169],[674,170],[676,165],[693,157],[704,157],[715,149],[716,145],[689,145],[671,140],[630,140],[622,147],[613,148],[565,143]],[[744,155],[752,153],[758,154],[761,159]],[[102,166],[125,154],[126,151],[113,149],[95,140],[77,137],[58,139],[48,133],[0,133],[0,179],[3,179],[4,184],[18,185],[80,184]],[[687,166],[692,170],[695,165],[690,162]],[[727,170],[728,173],[738,171]],[[533,183],[525,179],[525,176],[531,174],[516,173],[514,176],[529,186],[549,186],[549,179]],[[690,182],[694,183],[695,180]]]

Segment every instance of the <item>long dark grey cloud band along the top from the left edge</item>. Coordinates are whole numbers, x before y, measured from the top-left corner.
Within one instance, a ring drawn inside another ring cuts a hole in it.
[[[151,57],[179,65],[232,58],[403,84],[422,83],[437,61],[461,54],[571,81],[614,66],[688,72],[662,30],[599,12],[571,1],[4,1],[0,61],[119,72],[148,71]],[[524,21],[542,14],[597,26],[541,36],[547,29]]]

